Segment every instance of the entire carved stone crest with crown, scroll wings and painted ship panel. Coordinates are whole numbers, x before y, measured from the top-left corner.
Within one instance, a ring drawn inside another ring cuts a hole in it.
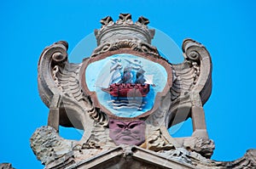
[[[253,150],[241,161],[210,160],[214,143],[203,104],[212,91],[212,62],[201,43],[184,40],[184,61],[175,65],[151,45],[148,19],[133,22],[131,14],[120,14],[116,22],[108,16],[101,23],[98,46],[81,64],[69,63],[63,41],[40,56],[38,89],[49,118],[32,135],[31,147],[46,168],[151,168],[152,159],[155,168],[255,164]],[[192,136],[172,138],[167,129],[188,118]],[[61,138],[60,125],[82,129],[83,137]]]

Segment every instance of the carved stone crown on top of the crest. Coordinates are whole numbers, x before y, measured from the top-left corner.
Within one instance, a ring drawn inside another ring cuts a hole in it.
[[[116,22],[110,16],[101,20],[102,28],[95,30],[97,45],[104,42],[117,42],[128,39],[131,41],[146,42],[151,44],[154,37],[154,30],[148,29],[149,20],[143,16],[134,23],[131,14],[119,14]]]

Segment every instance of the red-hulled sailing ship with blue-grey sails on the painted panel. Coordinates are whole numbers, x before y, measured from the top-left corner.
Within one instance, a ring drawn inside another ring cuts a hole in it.
[[[127,60],[126,60],[127,61]],[[121,73],[122,66],[115,62],[110,69],[111,81],[108,88],[102,88],[102,91],[118,98],[136,98],[146,97],[150,85],[147,82],[141,65],[132,64],[131,61]]]

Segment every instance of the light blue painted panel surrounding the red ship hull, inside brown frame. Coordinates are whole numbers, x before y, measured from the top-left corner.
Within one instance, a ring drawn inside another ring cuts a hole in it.
[[[96,92],[99,102],[114,115],[136,117],[153,108],[156,93],[166,86],[167,73],[162,65],[151,60],[132,54],[114,54],[88,65],[85,81],[89,90]],[[129,96],[132,91],[129,90],[125,97],[106,92],[115,84],[149,86],[149,91],[144,96],[143,93]]]

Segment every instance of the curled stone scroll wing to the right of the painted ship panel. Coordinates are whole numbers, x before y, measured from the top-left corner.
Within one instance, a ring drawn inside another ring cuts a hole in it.
[[[167,117],[172,125],[186,120],[191,107],[201,107],[212,92],[212,61],[207,49],[199,42],[186,39],[183,41],[183,55],[182,64],[172,65],[172,115]],[[182,116],[173,121],[174,115],[179,112]]]

